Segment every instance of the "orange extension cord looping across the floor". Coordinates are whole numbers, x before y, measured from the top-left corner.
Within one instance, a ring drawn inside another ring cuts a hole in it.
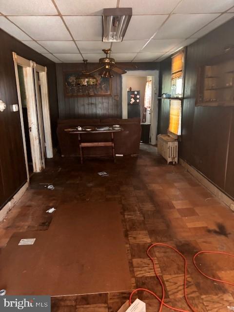
[[[152,292],[148,289],[145,289],[145,288],[137,288],[135,289],[130,297],[129,297],[129,303],[130,305],[132,304],[132,296],[135,292],[138,292],[138,291],[144,291],[144,292],[149,292],[151,293],[159,302],[160,302],[160,307],[159,307],[159,310],[158,312],[161,312],[162,311],[162,308],[163,306],[169,308],[169,309],[172,309],[174,311],[179,311],[179,312],[189,312],[187,310],[182,310],[182,309],[177,309],[177,308],[174,308],[174,307],[171,307],[169,305],[167,305],[165,302],[164,302],[164,297],[165,297],[165,289],[164,289],[164,285],[163,285],[163,282],[162,280],[160,279],[160,277],[158,276],[158,274],[156,273],[156,266],[155,266],[155,262],[154,262],[154,258],[149,254],[150,250],[155,247],[155,246],[166,246],[168,248],[171,248],[173,249],[177,254],[179,254],[183,260],[184,260],[184,297],[185,297],[185,300],[186,300],[186,303],[187,305],[189,306],[189,308],[191,309],[192,312],[196,312],[195,309],[192,307],[192,305],[190,304],[189,300],[188,300],[188,297],[187,297],[187,291],[186,291],[186,280],[187,280],[187,260],[185,258],[185,256],[183,254],[181,254],[176,248],[172,247],[172,246],[169,246],[167,244],[163,244],[163,243],[155,243],[153,245],[151,245],[148,250],[147,250],[147,255],[148,257],[151,259],[151,261],[153,262],[153,266],[154,266],[154,271],[155,271],[155,275],[157,277],[157,279],[159,280],[160,284],[161,284],[161,287],[162,287],[162,298],[159,298],[155,292]],[[193,262],[194,262],[194,265],[195,265],[195,268],[205,277],[209,278],[209,279],[212,279],[213,281],[215,282],[220,282],[220,283],[224,283],[224,284],[228,284],[228,285],[232,285],[234,286],[233,283],[230,283],[230,282],[226,282],[226,281],[223,281],[223,280],[220,280],[220,279],[216,279],[216,278],[213,278],[213,277],[210,277],[204,273],[201,272],[200,269],[198,269],[196,263],[195,263],[195,258],[198,254],[226,254],[226,255],[229,255],[231,257],[234,257],[234,254],[227,254],[227,253],[224,253],[224,252],[212,252],[212,251],[202,251],[202,252],[198,252],[194,255],[193,257]]]

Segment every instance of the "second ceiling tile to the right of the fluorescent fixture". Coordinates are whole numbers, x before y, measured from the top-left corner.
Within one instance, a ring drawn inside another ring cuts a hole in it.
[[[173,14],[156,33],[154,39],[186,39],[219,14]]]

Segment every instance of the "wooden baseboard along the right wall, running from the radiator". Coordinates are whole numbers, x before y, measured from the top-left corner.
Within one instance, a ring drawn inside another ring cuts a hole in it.
[[[206,176],[189,165],[182,158],[179,158],[179,163],[201,184],[203,184],[211,193],[213,193],[219,200],[234,211],[234,199],[222,192],[217,186],[215,186]]]

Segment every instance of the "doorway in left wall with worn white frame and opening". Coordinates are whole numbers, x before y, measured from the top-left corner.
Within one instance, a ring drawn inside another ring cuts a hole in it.
[[[30,172],[42,171],[45,168],[45,158],[53,157],[47,69],[14,52],[13,59],[29,181]]]

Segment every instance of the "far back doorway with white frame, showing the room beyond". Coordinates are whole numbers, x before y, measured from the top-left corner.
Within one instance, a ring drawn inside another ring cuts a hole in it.
[[[143,143],[156,144],[158,71],[129,71],[122,76],[122,118],[140,117]]]

